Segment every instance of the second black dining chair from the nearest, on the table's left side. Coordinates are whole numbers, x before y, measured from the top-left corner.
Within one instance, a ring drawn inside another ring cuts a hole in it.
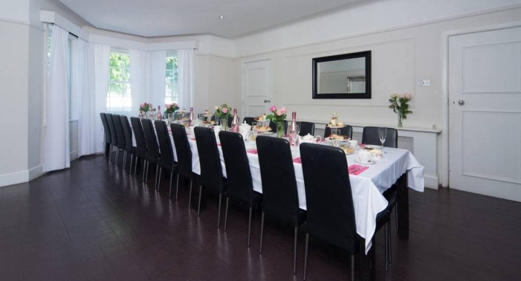
[[[293,158],[286,139],[258,136],[256,139],[262,180],[261,246],[264,235],[264,215],[276,217],[294,228],[293,274],[296,273],[298,228],[306,221],[306,212],[299,207]]]

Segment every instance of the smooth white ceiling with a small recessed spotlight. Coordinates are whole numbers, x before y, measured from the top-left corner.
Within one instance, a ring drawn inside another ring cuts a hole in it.
[[[145,37],[241,34],[367,0],[59,0],[94,27]],[[219,19],[219,16],[225,19]]]

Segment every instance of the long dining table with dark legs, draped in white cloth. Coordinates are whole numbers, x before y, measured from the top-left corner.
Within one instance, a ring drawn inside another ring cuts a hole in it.
[[[176,147],[173,144],[170,128],[168,128],[168,131],[172,143],[173,157],[174,160],[177,161]],[[276,135],[272,134],[271,136],[275,137]],[[200,175],[199,152],[197,151],[193,130],[188,127],[187,137],[192,152],[192,172]],[[226,166],[217,134],[216,142],[220,154],[222,175],[226,177]],[[327,142],[320,142],[319,144],[331,145]],[[262,193],[261,169],[259,167],[256,143],[252,140],[246,140],[244,145],[250,163],[253,189]],[[293,167],[295,170],[297,192],[299,194],[299,205],[301,209],[306,210],[304,175],[302,172],[302,164],[298,161],[300,158],[299,146],[291,146],[291,154],[294,159]],[[348,165],[355,164],[355,157],[356,151],[353,154],[346,155]],[[410,151],[395,148],[384,148],[383,157],[376,160],[375,164],[368,165],[368,168],[358,175],[349,175],[353,193],[356,233],[364,238],[362,247],[368,258],[366,262],[362,262],[362,279],[375,279],[375,251],[374,247],[371,246],[376,230],[376,216],[388,205],[382,193],[393,184],[398,185],[398,204],[396,206],[398,208],[398,217],[396,218],[398,220],[398,235],[400,238],[407,239],[409,235],[408,188],[423,192],[423,175],[424,167],[416,160]]]

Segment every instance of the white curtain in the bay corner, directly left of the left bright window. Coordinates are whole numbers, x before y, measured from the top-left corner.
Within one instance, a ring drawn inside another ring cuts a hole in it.
[[[100,113],[106,110],[110,46],[78,41],[78,156],[104,151]]]

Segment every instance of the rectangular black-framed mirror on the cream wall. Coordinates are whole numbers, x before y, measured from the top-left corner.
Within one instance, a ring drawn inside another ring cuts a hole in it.
[[[371,51],[313,58],[313,99],[370,99]]]

